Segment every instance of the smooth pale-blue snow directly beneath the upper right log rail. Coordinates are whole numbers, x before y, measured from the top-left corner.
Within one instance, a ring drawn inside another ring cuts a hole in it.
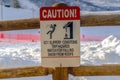
[[[108,37],[110,35],[114,35],[120,39],[120,26],[94,26],[94,27],[81,27],[81,34],[84,35],[92,35],[92,36],[100,36],[100,37]]]

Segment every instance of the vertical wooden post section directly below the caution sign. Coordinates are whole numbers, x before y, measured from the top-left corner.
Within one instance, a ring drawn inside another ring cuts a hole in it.
[[[57,67],[52,74],[53,80],[68,80],[68,68]]]

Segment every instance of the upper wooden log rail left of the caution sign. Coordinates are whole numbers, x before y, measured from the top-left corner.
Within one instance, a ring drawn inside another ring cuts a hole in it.
[[[40,21],[39,19],[35,19],[35,18],[0,21],[0,31],[38,29],[38,28],[40,28]]]

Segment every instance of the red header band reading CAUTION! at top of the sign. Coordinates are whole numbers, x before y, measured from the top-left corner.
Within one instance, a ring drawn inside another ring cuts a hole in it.
[[[42,7],[40,20],[80,20],[80,8],[77,6]]]

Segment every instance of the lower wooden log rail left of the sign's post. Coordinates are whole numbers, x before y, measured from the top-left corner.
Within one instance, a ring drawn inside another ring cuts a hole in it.
[[[52,69],[43,68],[43,67],[39,67],[39,66],[0,69],[0,79],[32,77],[32,76],[46,76],[49,74],[52,74]]]

